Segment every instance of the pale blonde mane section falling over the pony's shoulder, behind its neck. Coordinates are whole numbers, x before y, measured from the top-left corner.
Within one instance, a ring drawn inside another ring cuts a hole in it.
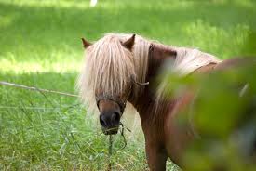
[[[186,47],[175,47],[172,48],[177,52],[176,59],[168,63],[168,66],[165,66],[162,69],[161,83],[158,85],[155,93],[155,114],[163,108],[160,104],[167,104],[168,99],[173,98],[173,93],[169,91],[171,82],[169,82],[169,73],[172,73],[178,77],[186,76],[195,70],[207,66],[210,63],[220,63],[222,60],[217,57],[210,55],[205,52],[201,52],[195,48],[186,48]],[[171,66],[171,67],[169,67]],[[174,93],[175,94],[175,93]]]

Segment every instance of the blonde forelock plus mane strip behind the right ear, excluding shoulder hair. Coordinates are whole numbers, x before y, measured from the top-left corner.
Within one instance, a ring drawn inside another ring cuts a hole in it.
[[[108,33],[89,46],[85,64],[77,81],[79,95],[86,104],[95,104],[95,91],[107,96],[120,96],[131,86],[131,77],[144,82],[148,50],[151,43],[136,35],[132,52],[122,45],[132,34]],[[140,95],[134,85],[134,95]],[[95,106],[95,105],[93,105]]]

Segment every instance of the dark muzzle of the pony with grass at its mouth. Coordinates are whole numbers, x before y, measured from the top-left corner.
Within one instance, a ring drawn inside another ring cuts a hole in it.
[[[100,124],[105,135],[117,134],[120,125],[119,112],[101,112]]]

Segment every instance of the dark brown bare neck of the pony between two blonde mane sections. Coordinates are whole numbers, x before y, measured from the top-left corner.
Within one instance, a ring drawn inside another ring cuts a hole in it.
[[[140,96],[130,96],[128,101],[136,108],[141,117],[144,114],[147,118],[150,118],[150,114],[154,115],[156,108],[155,92],[157,82],[155,79],[160,72],[161,67],[167,59],[175,59],[176,51],[170,46],[164,46],[160,44],[152,44],[148,53],[148,68],[145,76],[145,81],[149,82],[149,85],[141,88]],[[153,84],[154,83],[154,84]],[[135,85],[138,86],[138,85]],[[150,112],[150,113],[149,113]]]

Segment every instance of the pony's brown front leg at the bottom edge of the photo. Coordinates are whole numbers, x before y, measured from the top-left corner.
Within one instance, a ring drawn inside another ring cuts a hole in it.
[[[167,163],[167,153],[158,144],[146,142],[147,162],[151,171],[165,171]]]

